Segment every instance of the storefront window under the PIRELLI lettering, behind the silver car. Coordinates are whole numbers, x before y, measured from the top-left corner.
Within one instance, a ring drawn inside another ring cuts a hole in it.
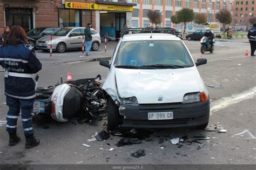
[[[59,27],[81,26],[80,10],[59,9]]]

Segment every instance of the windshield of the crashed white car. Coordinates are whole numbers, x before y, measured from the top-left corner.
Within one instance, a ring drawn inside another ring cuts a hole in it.
[[[114,66],[127,69],[179,69],[193,66],[193,62],[181,41],[138,40],[120,44]]]

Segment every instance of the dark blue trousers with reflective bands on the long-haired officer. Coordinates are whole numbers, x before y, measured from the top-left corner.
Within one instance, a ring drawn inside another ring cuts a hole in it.
[[[9,106],[9,111],[6,116],[6,131],[9,133],[16,133],[17,119],[19,112],[22,112],[22,125],[25,135],[34,133],[32,128],[32,108],[35,99],[16,99],[6,96],[6,104]]]

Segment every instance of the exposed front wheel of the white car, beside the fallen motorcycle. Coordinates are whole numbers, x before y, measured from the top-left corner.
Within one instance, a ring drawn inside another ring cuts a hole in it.
[[[114,130],[120,124],[120,114],[118,110],[118,106],[114,103],[112,98],[109,98],[109,110],[107,112],[107,129]]]

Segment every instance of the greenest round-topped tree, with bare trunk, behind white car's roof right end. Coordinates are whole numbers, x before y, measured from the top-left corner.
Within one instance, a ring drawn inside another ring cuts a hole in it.
[[[191,22],[194,20],[194,11],[189,8],[183,8],[177,12],[177,19],[179,22],[184,22],[184,32],[186,30],[186,22]]]

